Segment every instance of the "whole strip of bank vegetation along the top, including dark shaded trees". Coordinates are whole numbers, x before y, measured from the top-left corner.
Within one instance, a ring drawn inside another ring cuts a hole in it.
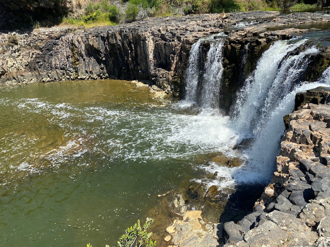
[[[0,0],[0,29],[101,26],[147,17],[235,11],[310,9],[330,0]]]

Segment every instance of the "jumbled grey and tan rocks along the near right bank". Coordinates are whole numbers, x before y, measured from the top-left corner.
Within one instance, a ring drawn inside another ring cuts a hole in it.
[[[296,95],[300,105],[289,115],[277,170],[254,212],[237,224],[207,223],[202,211],[183,212],[183,220],[166,229],[169,246],[330,246],[329,102],[329,88]]]

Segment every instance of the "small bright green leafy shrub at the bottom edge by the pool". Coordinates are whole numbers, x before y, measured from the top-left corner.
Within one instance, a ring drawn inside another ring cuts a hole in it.
[[[145,224],[141,226],[140,220],[134,224],[134,226],[127,228],[125,234],[118,239],[118,247],[146,247],[156,246],[156,240],[151,239],[152,232],[147,231],[150,225],[153,223],[153,219],[147,218]],[[113,246],[115,247],[115,246]]]

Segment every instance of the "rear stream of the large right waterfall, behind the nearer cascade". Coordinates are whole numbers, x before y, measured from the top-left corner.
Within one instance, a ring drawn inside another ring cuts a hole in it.
[[[300,67],[303,62],[300,60],[304,59],[304,54],[291,56],[288,59],[284,59],[284,57],[289,51],[297,49],[306,41],[307,39],[293,43],[277,41],[263,53],[254,73],[246,80],[235,106],[234,115],[236,115],[236,123],[241,132],[253,136],[257,125],[265,122],[265,116],[261,119],[260,115],[269,113],[272,106],[274,108],[284,97],[284,91],[289,91],[293,87],[301,71],[297,71],[291,65],[295,63],[296,67]],[[287,78],[287,83],[281,84],[286,79],[285,76],[288,75],[289,70],[294,74],[289,76],[295,81],[291,84],[292,81]],[[262,121],[260,122],[260,120]]]

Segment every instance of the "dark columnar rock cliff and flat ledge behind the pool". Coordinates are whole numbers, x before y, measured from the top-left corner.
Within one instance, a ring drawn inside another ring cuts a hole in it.
[[[237,29],[247,19],[259,22]],[[149,18],[85,30],[67,27],[1,33],[0,85],[99,78],[147,79],[159,88],[178,93],[183,88],[183,71],[191,45],[201,37],[229,28],[223,60],[226,97],[220,102],[229,108],[240,86],[241,77],[235,71],[244,51],[248,52],[248,72],[271,42],[307,31],[294,28],[267,31],[267,28],[329,20],[329,16],[321,14],[280,16],[279,12],[266,11]],[[16,37],[18,45],[9,44],[10,36]],[[315,58],[314,63],[317,65],[323,58]]]

